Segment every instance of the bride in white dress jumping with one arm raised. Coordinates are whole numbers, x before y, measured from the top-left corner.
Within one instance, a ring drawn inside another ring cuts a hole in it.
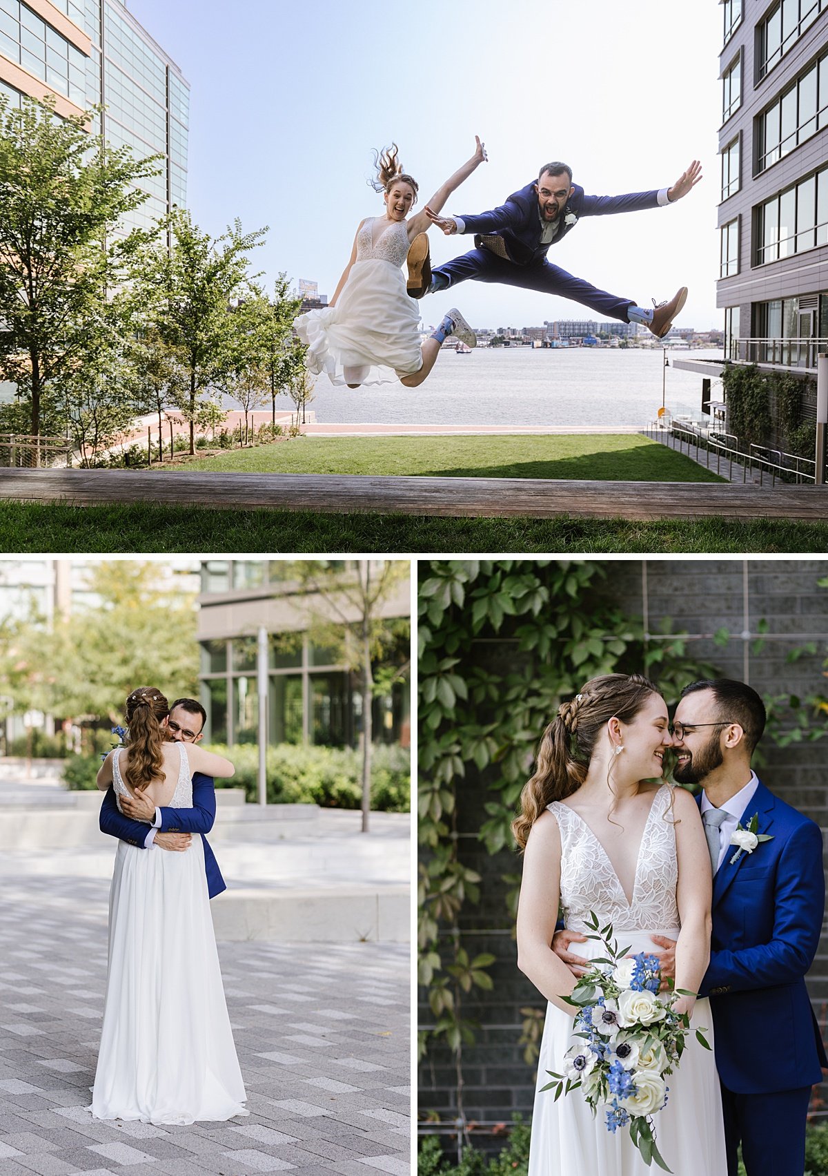
[[[446,335],[476,346],[474,333],[456,308],[420,346],[419,308],[406,293],[402,270],[415,241],[411,256],[417,256],[418,266],[428,267],[428,212],[439,212],[486,159],[477,135],[474,141],[471,159],[411,220],[406,216],[417,200],[417,181],[403,172],[396,145],[379,155],[373,187],[384,193],[385,215],[359,222],[350,260],[330,303],[299,315],[294,323],[308,347],[305,362],[312,375],[327,372],[331,383],[346,383],[349,388],[397,380],[406,388],[416,388],[435,366]]]

